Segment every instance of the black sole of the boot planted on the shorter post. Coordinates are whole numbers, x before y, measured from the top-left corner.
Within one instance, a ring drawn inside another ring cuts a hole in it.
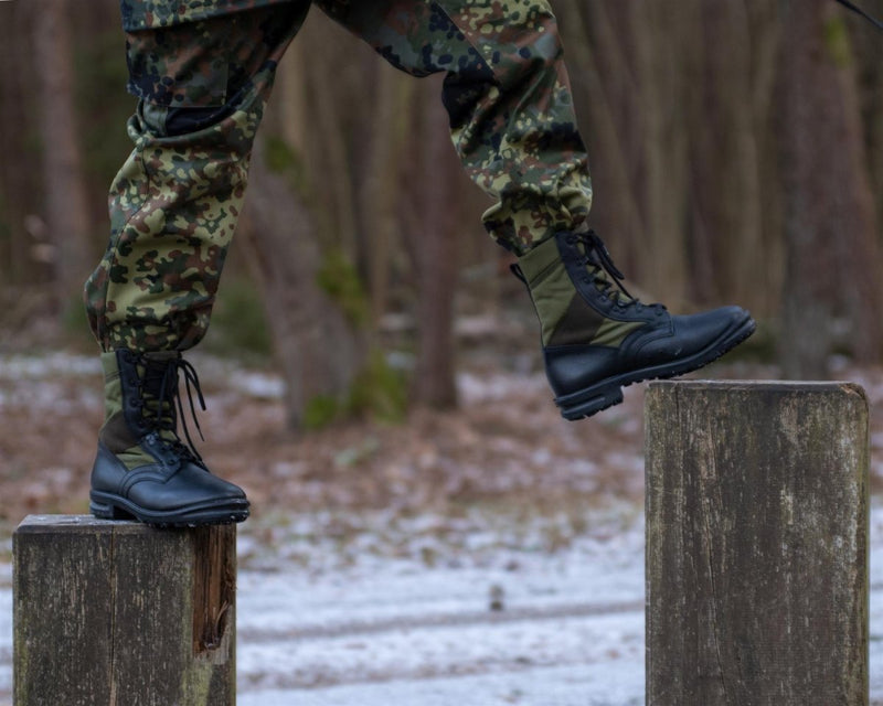
[[[92,491],[89,512],[99,520],[137,520],[153,527],[202,527],[228,525],[248,518],[248,501],[217,501],[170,512],[157,512],[137,505],[125,498]]]

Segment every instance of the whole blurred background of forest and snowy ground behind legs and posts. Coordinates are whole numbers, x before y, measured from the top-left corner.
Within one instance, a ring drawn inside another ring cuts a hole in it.
[[[755,335],[702,375],[843,376],[875,410],[883,32],[833,0],[550,1],[592,226],[629,289],[678,312],[752,310]],[[88,512],[104,409],[79,292],[135,108],[117,3],[0,0],[0,706],[12,531]],[[188,356],[209,403],[200,452],[252,501],[238,698],[528,706],[570,688],[555,703],[642,704],[642,386],[589,420],[558,415],[439,81],[318,11],[278,73]],[[871,431],[879,495],[875,413]]]

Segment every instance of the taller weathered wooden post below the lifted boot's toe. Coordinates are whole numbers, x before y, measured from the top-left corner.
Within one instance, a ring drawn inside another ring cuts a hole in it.
[[[863,391],[656,383],[646,435],[647,705],[866,705]]]

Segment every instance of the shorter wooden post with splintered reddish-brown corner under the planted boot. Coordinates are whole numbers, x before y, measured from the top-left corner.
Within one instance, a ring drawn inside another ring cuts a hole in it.
[[[235,525],[29,516],[13,535],[17,706],[232,706]]]

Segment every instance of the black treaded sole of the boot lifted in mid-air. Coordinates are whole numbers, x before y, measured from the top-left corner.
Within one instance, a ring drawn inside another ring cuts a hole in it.
[[[748,317],[738,328],[727,331],[699,353],[664,365],[651,365],[608,377],[578,392],[557,397],[555,404],[561,408],[561,416],[568,421],[585,419],[621,403],[623,387],[647,379],[668,379],[704,367],[736,347],[754,333],[756,328],[754,320]]]

